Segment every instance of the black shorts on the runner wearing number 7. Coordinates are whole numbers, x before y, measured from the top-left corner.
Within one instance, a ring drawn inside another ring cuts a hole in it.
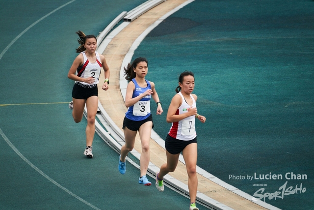
[[[183,141],[176,138],[171,137],[169,134],[167,134],[166,140],[165,140],[165,148],[170,154],[179,154],[184,150],[184,148],[192,143],[197,143],[196,137],[189,141]]]

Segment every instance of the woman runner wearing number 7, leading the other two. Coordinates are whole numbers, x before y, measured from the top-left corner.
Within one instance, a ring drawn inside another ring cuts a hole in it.
[[[165,140],[167,162],[160,167],[160,171],[156,175],[156,187],[159,191],[163,191],[163,177],[169,172],[175,171],[180,152],[182,152],[188,175],[190,210],[198,210],[195,205],[198,184],[195,118],[203,123],[206,118],[197,114],[197,96],[192,94],[193,90],[194,74],[190,71],[184,71],[179,77],[179,86],[176,88],[177,94],[172,98],[167,113],[167,122],[172,122]]]

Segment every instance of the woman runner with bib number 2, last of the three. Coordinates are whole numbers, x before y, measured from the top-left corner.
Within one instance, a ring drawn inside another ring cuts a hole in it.
[[[73,109],[72,116],[75,122],[80,122],[83,118],[84,107],[87,108],[86,126],[86,149],[84,155],[93,157],[92,144],[95,134],[95,118],[98,108],[98,88],[99,76],[103,67],[105,71],[105,82],[102,89],[108,90],[109,67],[105,57],[96,52],[97,39],[94,35],[85,35],[82,31],[76,32],[79,36],[80,46],[76,49],[79,55],[73,61],[69,70],[68,78],[76,81],[72,90],[72,101],[69,108]],[[77,74],[76,74],[77,73]]]

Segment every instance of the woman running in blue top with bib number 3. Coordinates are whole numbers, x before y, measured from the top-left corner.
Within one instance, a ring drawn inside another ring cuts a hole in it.
[[[139,132],[142,153],[138,182],[150,186],[152,183],[147,179],[146,172],[150,161],[149,141],[151,139],[152,128],[154,127],[150,108],[151,97],[157,103],[157,115],[161,115],[163,111],[155,90],[155,84],[145,80],[147,72],[148,61],[145,58],[137,58],[125,68],[126,79],[129,81],[125,103],[129,110],[126,112],[123,120],[122,128],[126,144],[121,148],[118,169],[121,174],[126,173],[126,156],[129,151],[133,150],[135,136]]]

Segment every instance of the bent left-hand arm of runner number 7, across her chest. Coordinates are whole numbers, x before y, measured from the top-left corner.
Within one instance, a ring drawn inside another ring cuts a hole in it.
[[[186,113],[176,115],[177,109],[181,106],[181,104],[182,104],[181,96],[178,94],[173,96],[167,113],[166,118],[167,122],[178,122],[180,120],[183,120],[184,118],[197,114],[196,107],[193,108],[191,106]]]

